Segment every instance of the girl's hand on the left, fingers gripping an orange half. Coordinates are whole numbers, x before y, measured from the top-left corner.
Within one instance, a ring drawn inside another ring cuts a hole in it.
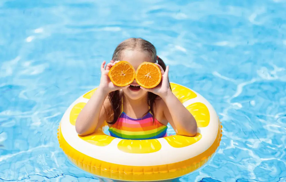
[[[114,66],[116,63],[118,63],[119,61],[115,61],[115,62],[110,62],[106,65],[105,69],[104,69],[104,65],[106,63],[106,61],[103,61],[100,67],[101,70],[101,78],[100,78],[100,84],[98,88],[103,89],[104,92],[110,93],[116,90],[120,90],[120,89],[127,89],[129,87],[129,85],[125,86],[125,87],[118,87],[116,85],[114,85],[111,81],[110,78],[108,77],[108,72],[110,70],[110,68],[112,66]]]

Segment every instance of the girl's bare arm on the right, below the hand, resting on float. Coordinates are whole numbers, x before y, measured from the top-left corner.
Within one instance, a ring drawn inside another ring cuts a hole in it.
[[[161,97],[165,103],[163,113],[178,135],[193,137],[197,133],[194,116],[180,103],[177,97],[168,91]]]

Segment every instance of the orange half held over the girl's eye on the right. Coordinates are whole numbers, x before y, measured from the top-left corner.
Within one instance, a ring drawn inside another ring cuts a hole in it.
[[[135,79],[137,83],[147,89],[156,87],[162,78],[160,68],[154,63],[143,62],[136,70]]]

